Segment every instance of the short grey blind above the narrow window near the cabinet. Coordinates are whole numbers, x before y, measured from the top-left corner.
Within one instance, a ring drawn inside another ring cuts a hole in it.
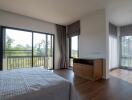
[[[67,37],[80,35],[80,21],[68,25],[66,33],[67,33]]]

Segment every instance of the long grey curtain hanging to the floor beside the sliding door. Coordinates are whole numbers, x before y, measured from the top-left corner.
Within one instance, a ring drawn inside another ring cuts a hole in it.
[[[61,25],[56,25],[57,28],[57,37],[58,37],[58,44],[60,49],[60,61],[59,67],[60,68],[67,68],[67,49],[66,49],[66,27]]]

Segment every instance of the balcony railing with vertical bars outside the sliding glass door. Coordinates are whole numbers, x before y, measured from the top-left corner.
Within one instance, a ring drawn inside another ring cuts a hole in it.
[[[7,56],[7,70],[17,69],[17,68],[30,68],[30,67],[40,67],[43,66],[48,69],[51,67],[52,57],[44,56]]]

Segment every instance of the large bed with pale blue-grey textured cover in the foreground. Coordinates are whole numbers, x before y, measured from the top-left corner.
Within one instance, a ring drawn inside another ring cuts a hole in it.
[[[0,100],[78,100],[72,84],[43,68],[0,71]]]

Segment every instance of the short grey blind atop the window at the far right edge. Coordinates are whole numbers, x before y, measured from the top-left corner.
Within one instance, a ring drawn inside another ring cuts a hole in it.
[[[121,36],[132,35],[132,25],[121,26],[120,27],[120,35]]]

